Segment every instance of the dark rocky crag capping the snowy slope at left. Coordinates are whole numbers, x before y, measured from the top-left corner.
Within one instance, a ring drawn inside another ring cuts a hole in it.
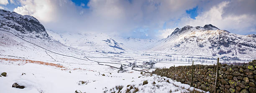
[[[33,38],[49,38],[44,26],[33,16],[0,10],[0,23],[0,28],[16,30],[14,33],[17,34],[26,34]]]

